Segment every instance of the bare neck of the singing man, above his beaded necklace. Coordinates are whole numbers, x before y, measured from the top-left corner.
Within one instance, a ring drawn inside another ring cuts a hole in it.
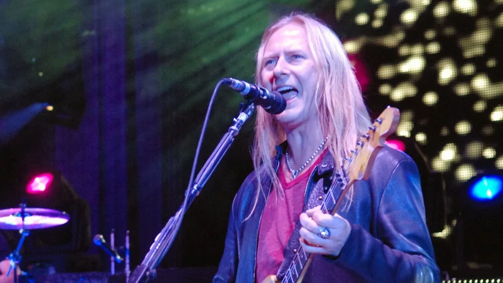
[[[325,139],[318,119],[304,123],[295,129],[286,130],[290,165],[297,169],[320,146]]]

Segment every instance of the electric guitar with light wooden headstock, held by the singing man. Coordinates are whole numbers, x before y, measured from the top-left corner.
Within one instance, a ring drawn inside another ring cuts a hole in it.
[[[384,147],[386,138],[395,132],[400,120],[400,112],[388,107],[374,121],[369,131],[357,142],[356,148],[343,160],[340,171],[334,172],[327,197],[321,205],[323,213],[334,214],[339,210],[344,197],[357,180],[366,180],[370,176],[377,153]],[[314,254],[306,253],[299,244],[297,252],[290,261],[288,269],[276,275],[267,276],[262,283],[300,283]]]

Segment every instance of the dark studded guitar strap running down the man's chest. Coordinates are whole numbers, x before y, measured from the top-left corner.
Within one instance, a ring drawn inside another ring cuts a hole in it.
[[[308,183],[311,183],[312,179],[311,187],[313,185],[314,187],[311,189],[311,192],[309,192],[307,202],[304,201],[304,207],[302,209],[303,212],[315,208],[317,206],[320,206],[323,203],[325,194],[329,190],[330,185],[332,183],[333,171],[334,171],[334,163],[332,156],[328,151],[325,154],[325,156],[323,156],[321,163],[318,165],[315,171],[309,176],[310,179]],[[297,220],[297,222],[295,223],[295,229],[293,230],[290,239],[288,239],[288,243],[285,247],[285,250],[283,251],[283,256],[285,259],[283,260],[283,263],[281,263],[281,266],[278,269],[276,275],[277,279],[280,281],[281,279],[283,279],[285,271],[288,269],[290,262],[292,261],[296,253],[296,248],[299,247],[300,227],[301,227],[300,221]]]

